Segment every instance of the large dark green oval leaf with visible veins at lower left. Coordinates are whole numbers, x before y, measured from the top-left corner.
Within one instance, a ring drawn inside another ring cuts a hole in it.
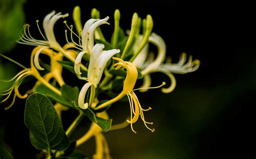
[[[40,93],[26,99],[25,125],[30,130],[32,145],[40,150],[65,150],[70,141],[51,101]]]

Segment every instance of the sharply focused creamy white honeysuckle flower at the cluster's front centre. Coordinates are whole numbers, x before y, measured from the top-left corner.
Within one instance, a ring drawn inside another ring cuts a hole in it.
[[[84,103],[85,95],[91,85],[97,87],[100,78],[102,78],[103,70],[109,59],[120,52],[119,49],[103,50],[103,44],[96,44],[91,50],[91,58],[88,68],[87,77],[80,77],[85,79],[88,83],[85,83],[78,96],[78,105],[81,109],[87,109],[88,103]],[[85,52],[80,52],[77,55],[75,62],[75,73],[80,76],[80,63]]]

